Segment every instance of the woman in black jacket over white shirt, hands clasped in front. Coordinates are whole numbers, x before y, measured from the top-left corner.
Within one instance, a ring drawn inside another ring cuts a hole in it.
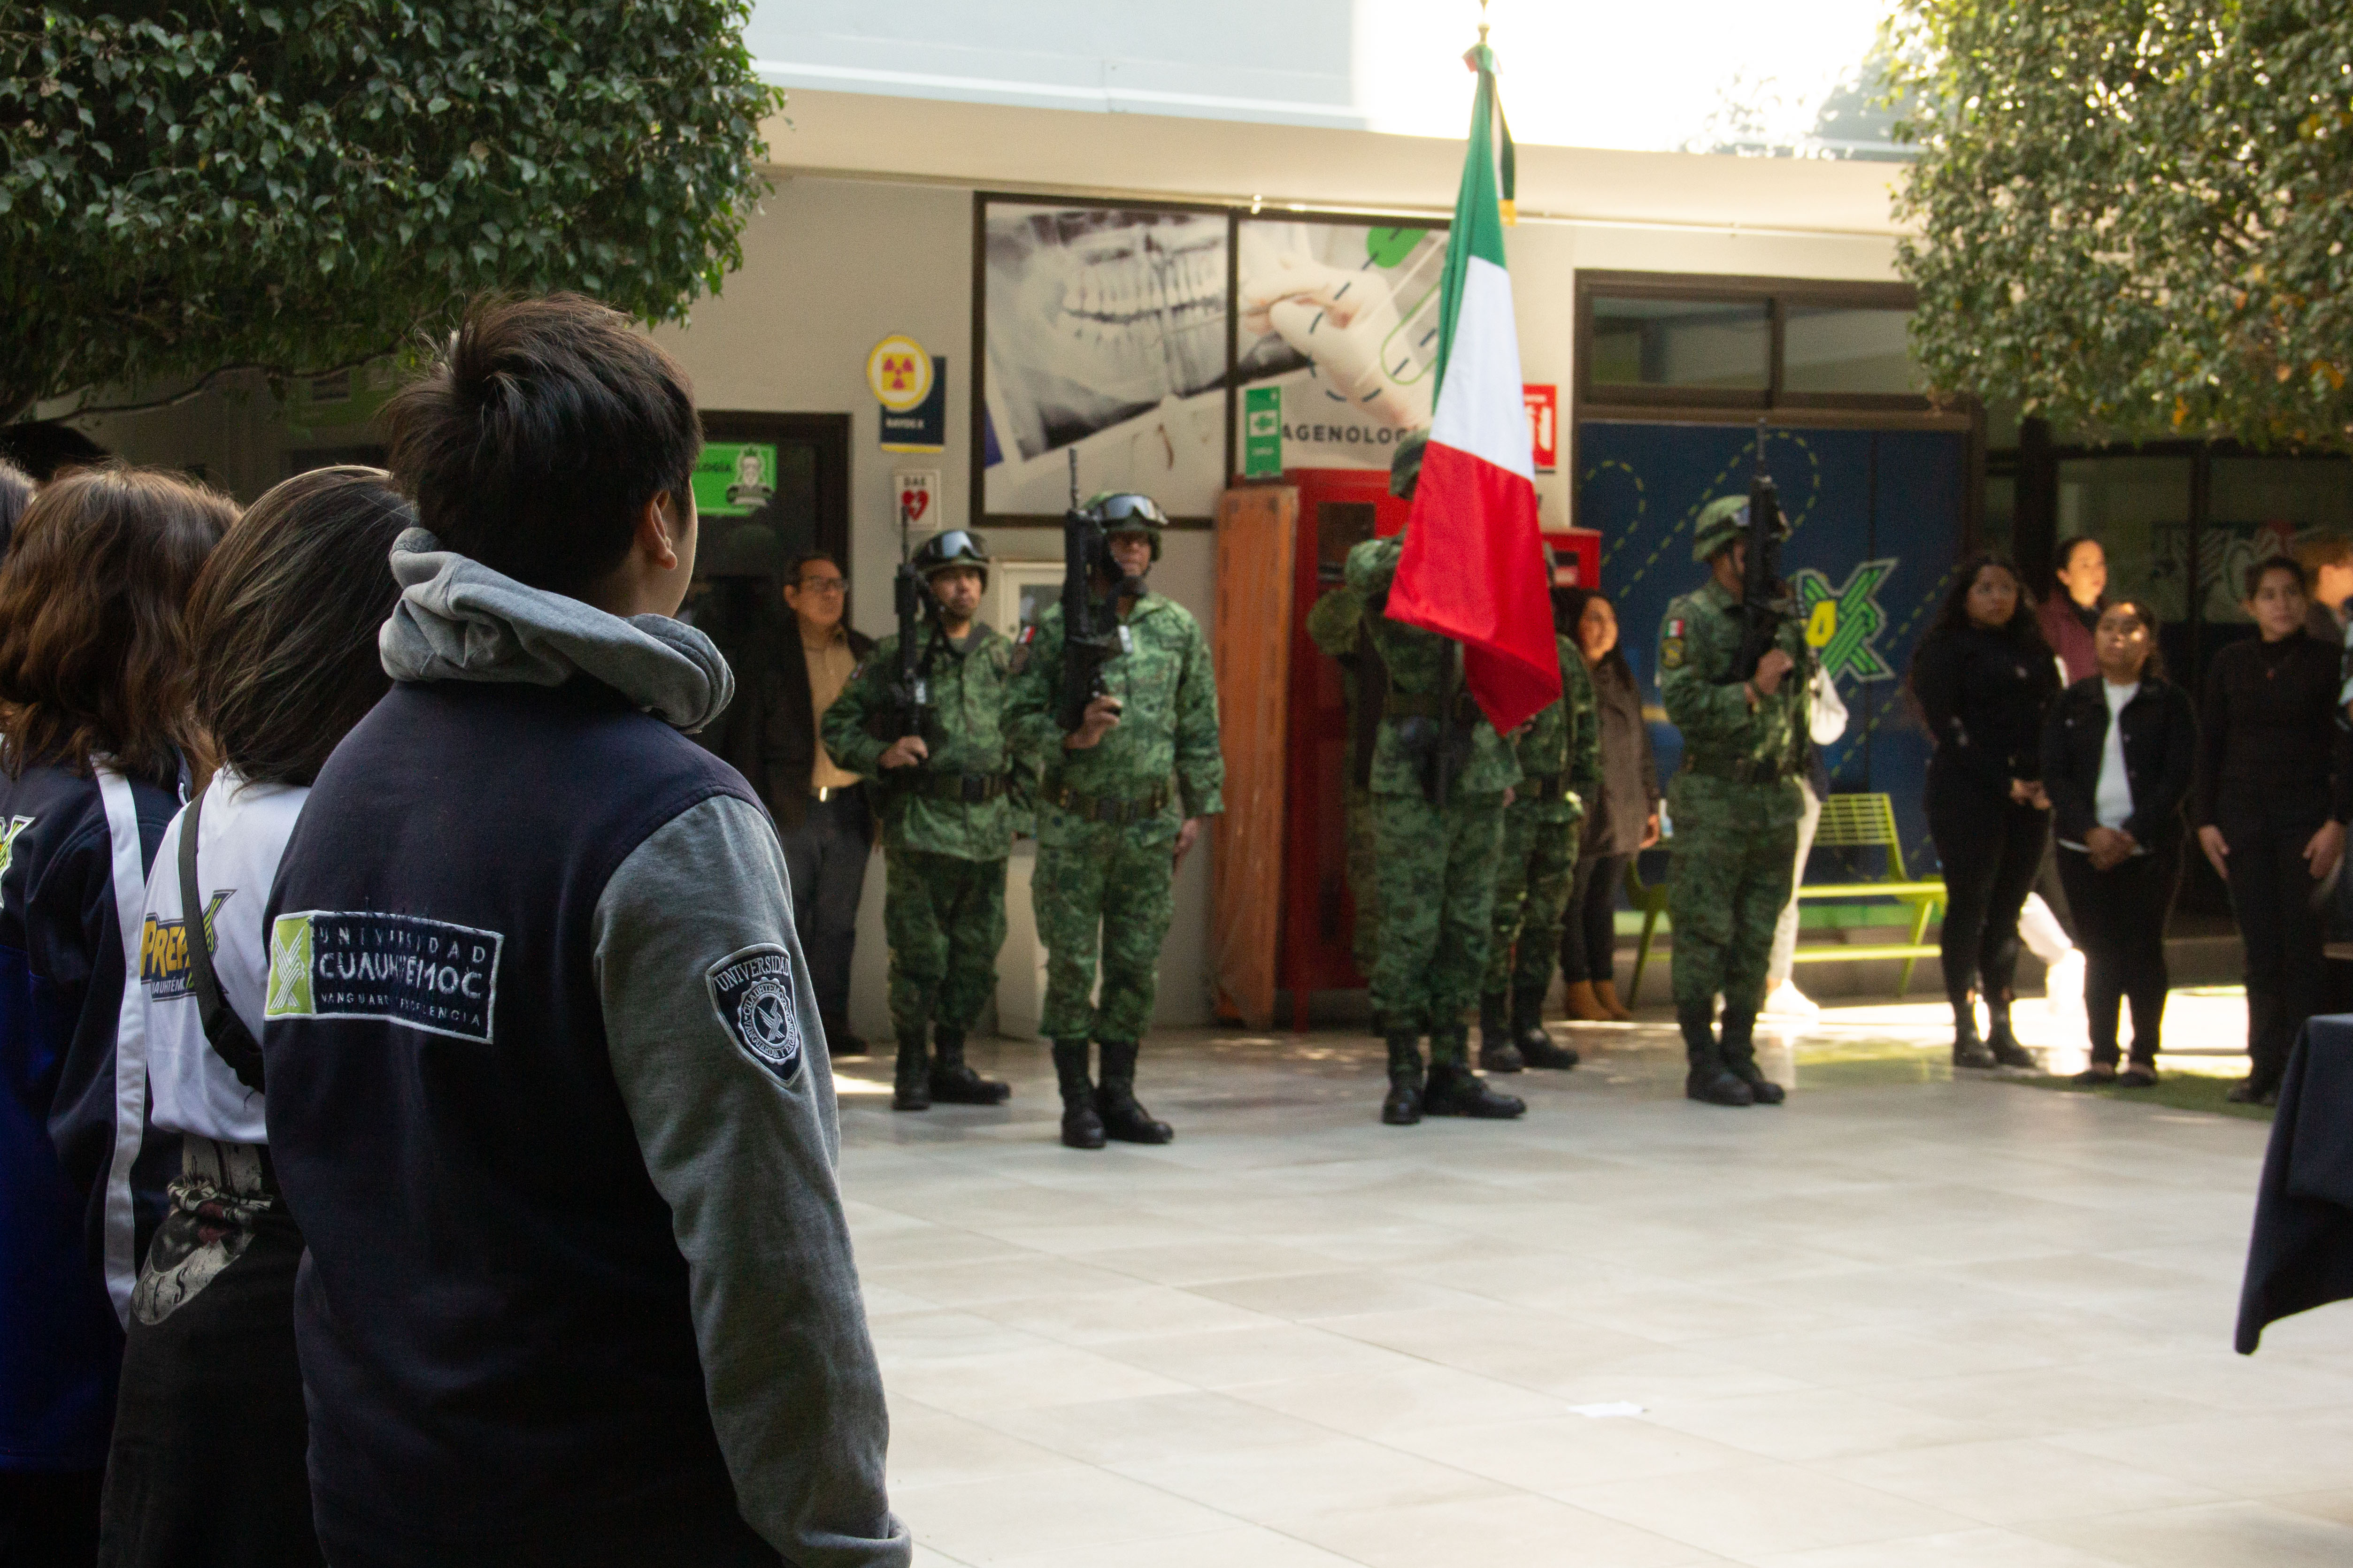
[[[2158,616],[2118,599],[2092,630],[2099,675],[2059,696],[2042,724],[2042,790],[2059,835],[2059,882],[2082,945],[2092,1065],[2078,1084],[2158,1081],[2165,922],[2181,884],[2181,802],[2198,762],[2198,715],[2165,679]],[[2115,1016],[2132,999],[2132,1067],[2118,1077]]]

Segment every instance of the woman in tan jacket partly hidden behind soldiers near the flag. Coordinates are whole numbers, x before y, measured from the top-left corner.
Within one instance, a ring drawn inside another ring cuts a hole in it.
[[[1659,764],[1609,599],[1591,588],[1558,588],[1553,621],[1586,656],[1602,715],[1602,788],[1586,802],[1577,879],[1560,919],[1560,978],[1572,1020],[1626,1020],[1633,1013],[1617,994],[1617,889],[1626,860],[1659,842]]]

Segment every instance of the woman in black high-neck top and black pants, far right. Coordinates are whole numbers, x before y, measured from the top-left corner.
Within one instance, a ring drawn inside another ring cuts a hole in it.
[[[2304,567],[2247,574],[2257,637],[2214,654],[2200,696],[2198,846],[2226,884],[2247,950],[2247,1081],[2271,1105],[2287,1051],[2320,1006],[2322,917],[2313,891],[2337,870],[2353,776],[2337,722],[2337,649],[2304,630]]]

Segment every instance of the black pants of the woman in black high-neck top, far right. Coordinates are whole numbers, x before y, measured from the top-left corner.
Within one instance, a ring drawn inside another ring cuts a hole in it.
[[[2318,790],[2214,802],[2214,825],[2231,846],[2231,914],[2247,950],[2247,1056],[2259,1088],[2278,1088],[2297,1032],[2320,1009],[2327,926],[2313,907],[2304,846],[2325,820],[2329,802]]]

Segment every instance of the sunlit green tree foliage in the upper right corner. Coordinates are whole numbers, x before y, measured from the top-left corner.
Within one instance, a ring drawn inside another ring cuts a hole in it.
[[[2120,437],[2353,447],[2344,0],[1904,0],[1913,346]]]

